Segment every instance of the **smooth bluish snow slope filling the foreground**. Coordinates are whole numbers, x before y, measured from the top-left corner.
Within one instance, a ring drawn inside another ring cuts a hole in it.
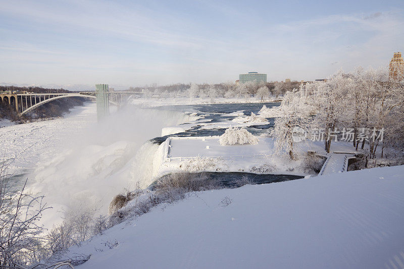
[[[99,269],[402,268],[403,179],[399,166],[195,192],[67,256]]]

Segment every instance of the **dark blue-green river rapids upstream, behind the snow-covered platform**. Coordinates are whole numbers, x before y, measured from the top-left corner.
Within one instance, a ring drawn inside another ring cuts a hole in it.
[[[267,107],[279,106],[279,102],[272,103],[220,103],[220,104],[196,104],[196,105],[164,105],[157,107],[157,109],[161,110],[174,110],[183,112],[186,114],[196,113],[197,116],[203,116],[203,119],[200,120],[210,120],[209,123],[217,123],[224,121],[231,121],[237,116],[228,116],[226,114],[234,113],[237,111],[243,111],[243,114],[246,116],[251,115],[251,112],[257,114],[263,107],[266,105]],[[251,125],[246,127],[248,132],[254,135],[260,135],[263,133],[268,133],[271,128],[274,127],[274,118],[267,118],[268,124],[265,125]],[[199,120],[199,121],[200,121]],[[168,137],[171,136],[219,136],[225,132],[225,128],[215,128],[215,129],[200,129],[206,122],[200,122],[200,125],[196,125],[186,132],[171,134],[162,137],[156,137],[151,139],[152,142],[161,144]]]

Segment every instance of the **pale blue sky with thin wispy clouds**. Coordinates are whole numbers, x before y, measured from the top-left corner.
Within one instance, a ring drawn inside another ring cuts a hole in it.
[[[404,1],[0,0],[0,85],[326,78],[404,52]]]

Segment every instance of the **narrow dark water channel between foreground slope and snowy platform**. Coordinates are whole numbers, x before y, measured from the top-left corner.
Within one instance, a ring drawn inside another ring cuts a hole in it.
[[[200,177],[204,175],[206,178],[207,185],[209,183],[216,183],[223,188],[236,188],[240,187],[237,183],[237,179],[244,179],[248,182],[248,184],[268,184],[275,182],[284,182],[295,179],[301,179],[302,176],[294,176],[294,175],[273,175],[273,174],[251,174],[251,173],[239,173],[239,172],[200,172],[200,173],[192,173],[196,177]],[[169,175],[163,176],[167,177]],[[156,181],[150,184],[149,189],[154,189],[156,185]]]

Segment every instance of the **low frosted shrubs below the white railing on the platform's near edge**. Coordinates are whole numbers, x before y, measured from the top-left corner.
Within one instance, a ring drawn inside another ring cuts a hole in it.
[[[190,160],[185,160],[179,165],[179,168],[186,172],[199,172],[199,171],[221,171],[222,167],[227,166],[223,158],[203,158],[195,157]]]

